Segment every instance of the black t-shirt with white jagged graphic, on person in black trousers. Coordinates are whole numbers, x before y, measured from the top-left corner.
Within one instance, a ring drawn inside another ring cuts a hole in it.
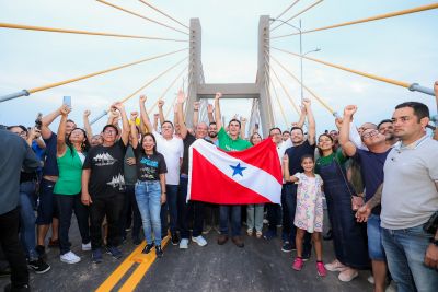
[[[125,191],[125,153],[126,145],[122,139],[112,147],[96,145],[90,149],[82,168],[91,170],[91,197],[111,197]]]

